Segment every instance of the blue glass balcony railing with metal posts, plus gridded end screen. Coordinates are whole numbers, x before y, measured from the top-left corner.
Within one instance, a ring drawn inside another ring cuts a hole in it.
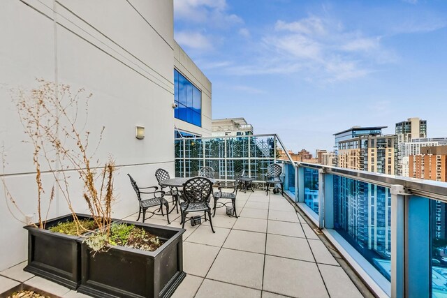
[[[287,195],[376,295],[447,297],[447,183],[277,161],[277,135],[175,142],[184,177],[210,165],[217,179],[243,168],[262,182],[270,163],[283,164]]]

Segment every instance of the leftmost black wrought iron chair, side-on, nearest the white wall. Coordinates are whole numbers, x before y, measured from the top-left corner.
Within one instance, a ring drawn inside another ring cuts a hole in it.
[[[137,183],[132,178],[132,176],[130,174],[127,174],[127,176],[129,176],[129,179],[131,179],[131,184],[132,184],[133,190],[137,194],[138,204],[140,206],[140,210],[138,211],[137,221],[140,220],[140,215],[142,213],[142,222],[143,223],[145,222],[146,211],[150,207],[159,207],[159,209],[156,209],[154,211],[150,211],[150,213],[152,213],[152,215],[149,216],[149,218],[151,218],[154,215],[162,215],[162,216],[164,216],[164,214],[163,214],[163,205],[164,205],[166,207],[166,218],[168,218],[168,223],[170,223],[170,221],[169,221],[169,203],[168,203],[168,201],[165,198],[163,198],[165,192],[164,191],[158,191],[158,189],[159,189],[158,186],[138,187]],[[142,189],[144,189],[144,190],[146,190],[146,189],[154,189],[154,191],[141,191]],[[157,194],[159,196],[157,196]],[[148,198],[148,199],[143,200],[141,198],[142,195],[153,195],[154,198]],[[161,214],[156,214],[157,211],[161,211]]]

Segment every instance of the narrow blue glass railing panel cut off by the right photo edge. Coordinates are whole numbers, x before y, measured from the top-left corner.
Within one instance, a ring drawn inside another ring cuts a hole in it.
[[[447,297],[447,204],[430,202],[432,297]]]

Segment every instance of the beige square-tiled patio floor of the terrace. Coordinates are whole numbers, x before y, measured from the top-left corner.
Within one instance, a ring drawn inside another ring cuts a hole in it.
[[[239,218],[217,209],[209,222],[186,222],[184,271],[173,297],[363,297],[305,219],[281,195],[237,193]],[[138,214],[124,219],[135,221]],[[170,214],[181,227],[180,216]],[[166,216],[147,223],[167,225]],[[59,297],[87,297],[24,272],[25,262],[0,272],[3,288],[23,282]],[[7,289],[6,289],[7,290]],[[4,291],[4,290],[3,290]]]

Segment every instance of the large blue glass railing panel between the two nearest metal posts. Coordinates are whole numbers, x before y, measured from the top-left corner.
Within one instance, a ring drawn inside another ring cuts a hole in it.
[[[390,188],[337,175],[333,187],[335,230],[390,281]]]

